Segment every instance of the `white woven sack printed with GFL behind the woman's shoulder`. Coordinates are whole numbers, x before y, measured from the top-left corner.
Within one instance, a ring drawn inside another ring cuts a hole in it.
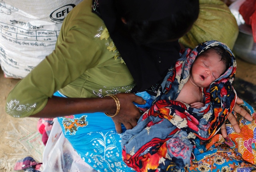
[[[0,65],[23,78],[55,48],[68,12],[82,0],[0,0]]]

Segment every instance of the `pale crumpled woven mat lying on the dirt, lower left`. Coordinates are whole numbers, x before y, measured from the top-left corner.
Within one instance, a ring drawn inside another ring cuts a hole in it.
[[[18,172],[13,170],[14,164],[26,156],[32,156],[37,162],[42,162],[44,144],[42,135],[37,131],[37,121],[35,118],[12,118],[9,121],[4,136],[12,153],[4,153],[4,156],[0,157],[0,172]]]

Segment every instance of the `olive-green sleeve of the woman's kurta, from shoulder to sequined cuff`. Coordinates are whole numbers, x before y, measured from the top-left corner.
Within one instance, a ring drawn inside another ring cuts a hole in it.
[[[101,50],[96,40],[76,29],[70,30],[63,39],[61,36],[58,39],[56,49],[9,93],[6,113],[13,117],[38,113],[54,92],[98,64]]]

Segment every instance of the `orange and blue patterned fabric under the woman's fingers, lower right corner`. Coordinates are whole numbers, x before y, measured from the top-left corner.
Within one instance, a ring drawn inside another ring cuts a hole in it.
[[[253,117],[247,121],[240,114],[232,112],[241,128],[236,133],[228,121],[226,129],[228,138],[216,134],[207,143],[195,140],[194,158],[189,167],[182,172],[256,172],[256,109],[244,101],[242,106]]]

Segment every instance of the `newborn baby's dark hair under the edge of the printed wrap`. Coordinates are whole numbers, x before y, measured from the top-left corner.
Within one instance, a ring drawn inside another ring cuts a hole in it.
[[[230,67],[231,54],[226,49],[224,49],[222,46],[217,45],[217,46],[213,46],[213,47],[206,49],[205,51],[200,53],[198,55],[198,57],[201,55],[204,55],[206,53],[209,53],[210,51],[214,51],[215,53],[217,53],[218,55],[221,56],[220,61],[222,61],[225,64],[225,66],[226,66],[225,71],[226,71]]]

